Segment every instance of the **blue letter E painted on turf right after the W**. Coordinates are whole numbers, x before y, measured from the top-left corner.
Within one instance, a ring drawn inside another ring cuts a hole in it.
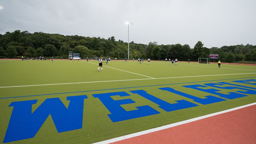
[[[137,110],[126,111],[120,105],[135,103],[131,99],[123,99],[123,100],[113,100],[110,96],[130,96],[126,92],[115,92],[115,93],[101,93],[101,94],[93,94],[94,98],[99,98],[100,101],[106,106],[106,108],[110,111],[111,114],[108,114],[108,117],[112,122],[119,122],[128,119],[134,119],[138,117],[145,117],[154,114],[160,114],[160,112],[151,108],[150,106],[138,106]]]

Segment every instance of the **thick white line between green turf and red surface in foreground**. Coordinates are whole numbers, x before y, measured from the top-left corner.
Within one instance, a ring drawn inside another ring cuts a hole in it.
[[[156,128],[149,129],[149,130],[144,130],[144,131],[141,131],[141,132],[136,132],[136,133],[133,133],[133,134],[124,135],[124,136],[121,136],[121,137],[116,137],[116,138],[113,138],[113,139],[104,140],[104,141],[93,143],[93,144],[114,143],[114,142],[117,142],[117,141],[120,141],[120,140],[125,140],[125,139],[128,139],[128,138],[137,137],[137,136],[140,136],[140,135],[145,135],[145,134],[148,134],[148,133],[151,133],[151,132],[156,132],[156,131],[159,131],[159,130],[168,129],[168,128],[175,127],[175,126],[178,126],[178,125],[187,124],[189,122],[194,122],[194,121],[197,121],[197,120],[200,120],[200,119],[205,119],[205,118],[208,118],[208,117],[213,117],[213,116],[223,114],[223,113],[227,113],[227,112],[230,112],[230,111],[242,109],[242,108],[252,106],[252,105],[255,105],[255,104],[256,103],[251,103],[251,104],[247,104],[247,105],[244,105],[244,106],[239,106],[239,107],[236,107],[236,108],[233,108],[233,109],[228,109],[228,110],[225,110],[225,111],[220,111],[220,112],[216,112],[216,113],[213,113],[213,114],[208,114],[208,115],[205,115],[205,116],[196,117],[196,118],[193,118],[193,119],[188,119],[188,120],[184,120],[184,121],[181,121],[181,122],[176,122],[176,123],[173,123],[173,124],[168,124],[168,125],[161,126],[161,127],[156,127]]]

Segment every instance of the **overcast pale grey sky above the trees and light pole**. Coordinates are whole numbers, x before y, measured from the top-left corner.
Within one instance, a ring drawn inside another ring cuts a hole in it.
[[[256,0],[0,0],[0,33],[15,30],[158,45],[256,45]]]

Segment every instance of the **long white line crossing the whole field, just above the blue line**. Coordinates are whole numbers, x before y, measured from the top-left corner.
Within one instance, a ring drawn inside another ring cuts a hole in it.
[[[254,73],[242,73],[242,74],[223,74],[223,75],[243,75],[243,74],[256,74]],[[197,75],[197,76],[186,76],[186,77],[208,77],[208,76],[219,76],[219,75]],[[156,80],[156,79],[168,79],[168,78],[184,78],[184,77],[162,77],[162,78],[146,78],[146,79],[132,79],[132,80]],[[130,81],[130,80],[108,80],[108,81],[96,81],[96,82],[116,82],[116,81]],[[79,83],[94,83],[94,82],[72,82],[72,83],[56,83],[56,84],[43,84],[43,85],[64,85],[64,84],[79,84]],[[29,87],[29,86],[42,86],[42,85],[20,85],[20,86],[7,86],[0,88],[14,88],[14,87]]]

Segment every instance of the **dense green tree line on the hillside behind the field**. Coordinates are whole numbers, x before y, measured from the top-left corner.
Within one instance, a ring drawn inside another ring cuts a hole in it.
[[[35,58],[39,56],[68,59],[68,52],[79,53],[80,57],[90,59],[94,57],[111,57],[112,59],[124,59],[128,57],[128,43],[118,40],[115,37],[90,38],[78,35],[60,35],[43,32],[29,33],[6,32],[0,34],[0,58]],[[201,41],[198,41],[193,48],[188,44],[158,45],[157,42],[149,42],[148,45],[129,43],[130,59],[179,59],[179,61],[198,61],[198,58],[209,58],[209,54],[218,54],[219,59],[224,62],[256,61],[256,46],[236,45],[222,46],[221,48],[206,48]],[[216,60],[214,60],[216,61]]]

